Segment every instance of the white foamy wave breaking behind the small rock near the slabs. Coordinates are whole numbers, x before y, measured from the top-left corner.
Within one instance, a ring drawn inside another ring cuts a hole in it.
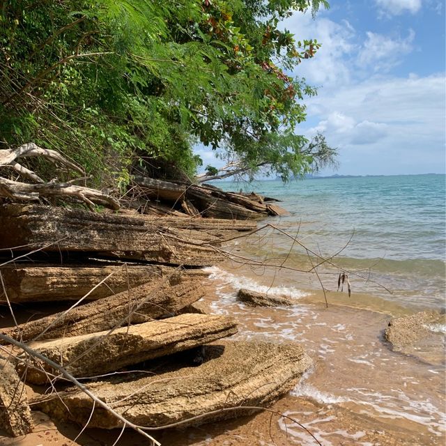
[[[305,293],[292,286],[267,286],[261,285],[253,279],[247,277],[234,275],[231,272],[221,270],[217,266],[210,266],[204,268],[204,271],[210,273],[210,279],[218,279],[226,284],[230,284],[234,289],[249,289],[251,291],[257,291],[259,293],[268,293],[269,295],[286,295],[290,298],[300,299],[309,293]]]

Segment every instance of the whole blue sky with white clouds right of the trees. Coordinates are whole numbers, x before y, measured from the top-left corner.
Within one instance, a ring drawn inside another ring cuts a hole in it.
[[[293,73],[318,86],[298,132],[325,134],[338,174],[445,173],[444,1],[332,0],[315,20],[296,13],[284,26],[322,43]]]

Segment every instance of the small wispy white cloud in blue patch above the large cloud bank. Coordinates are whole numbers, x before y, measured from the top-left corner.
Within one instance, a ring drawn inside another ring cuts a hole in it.
[[[367,31],[367,40],[357,56],[361,68],[371,67],[374,72],[388,72],[401,62],[401,56],[412,51],[415,32],[410,29],[406,38],[389,38]]]

